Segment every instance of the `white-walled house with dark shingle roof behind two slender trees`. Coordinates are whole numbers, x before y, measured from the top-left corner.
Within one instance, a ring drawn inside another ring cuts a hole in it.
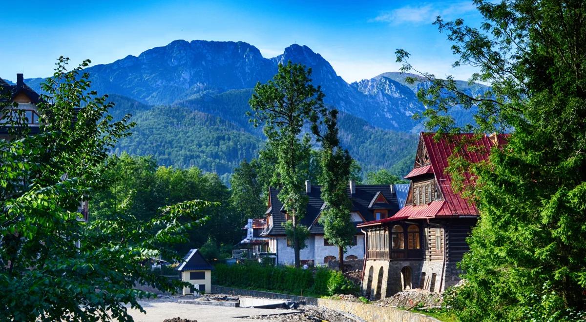
[[[347,193],[352,201],[353,224],[387,218],[397,213],[400,208],[398,200],[404,200],[404,197],[397,198],[396,186],[402,185],[360,185],[350,181]],[[399,187],[398,190],[404,191],[406,187]],[[319,224],[319,215],[324,207],[321,186],[312,186],[306,181],[305,193],[309,200],[301,224],[309,228],[310,235],[305,241],[306,247],[300,252],[301,263],[325,265],[338,259],[338,246],[329,244],[323,238],[323,226]],[[295,253],[282,226],[287,221],[288,214],[278,200],[278,194],[278,189],[269,189],[266,225],[261,236],[268,238],[268,252],[276,254],[277,263],[291,265],[294,263]],[[399,194],[401,195],[401,192]],[[346,249],[345,259],[363,259],[364,250],[364,234],[360,229],[356,229],[354,243]]]

